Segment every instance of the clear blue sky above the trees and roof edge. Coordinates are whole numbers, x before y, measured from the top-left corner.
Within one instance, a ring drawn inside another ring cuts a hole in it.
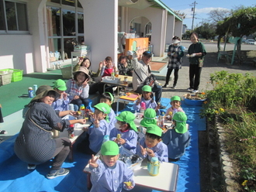
[[[209,13],[213,9],[236,9],[236,7],[240,5],[244,5],[246,7],[256,6],[255,0],[161,0],[165,5],[167,5],[170,9],[174,11],[180,11],[181,13],[185,13],[185,19],[183,20],[183,24],[187,25],[188,29],[192,29],[192,7],[194,7],[195,2],[195,18],[194,19],[194,29],[196,26],[201,26],[202,22],[207,22],[209,19]]]

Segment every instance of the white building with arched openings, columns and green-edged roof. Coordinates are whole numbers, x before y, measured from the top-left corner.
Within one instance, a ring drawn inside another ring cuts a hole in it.
[[[49,53],[70,61],[74,42],[91,46],[92,70],[106,56],[117,63],[117,32],[150,33],[154,55],[182,36],[182,18],[159,0],[2,0],[0,69],[45,72]],[[67,57],[67,58],[65,58]],[[71,61],[70,61],[71,62]]]

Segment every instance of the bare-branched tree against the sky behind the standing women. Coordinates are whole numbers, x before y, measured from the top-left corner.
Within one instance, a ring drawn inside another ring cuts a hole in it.
[[[209,15],[209,22],[216,25],[217,22],[223,21],[230,16],[230,10],[227,9],[213,9],[207,15]]]

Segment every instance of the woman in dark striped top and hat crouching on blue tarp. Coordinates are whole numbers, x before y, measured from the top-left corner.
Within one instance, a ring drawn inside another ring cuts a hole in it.
[[[29,163],[28,170],[54,157],[48,179],[64,176],[69,170],[61,168],[71,146],[68,138],[51,138],[53,129],[63,131],[74,123],[85,124],[85,119],[64,120],[59,117],[51,104],[60,94],[48,85],[40,86],[36,97],[30,101],[26,117],[14,144],[14,151],[22,161]]]

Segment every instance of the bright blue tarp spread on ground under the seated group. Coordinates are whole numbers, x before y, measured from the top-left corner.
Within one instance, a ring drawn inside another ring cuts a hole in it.
[[[162,105],[168,104],[169,98],[162,98]],[[130,111],[132,104],[127,105],[126,110]],[[182,103],[182,108],[188,115],[188,123],[191,134],[190,146],[186,149],[185,155],[176,163],[179,166],[177,192],[198,192],[200,191],[199,180],[199,148],[198,130],[206,125],[203,118],[199,118],[200,107],[188,106]],[[65,161],[63,167],[69,168],[71,172],[65,177],[57,177],[47,180],[45,177],[50,161],[36,166],[36,170],[29,171],[26,163],[23,163],[13,153],[13,142],[16,136],[0,144],[0,192],[2,191],[89,191],[87,190],[86,173],[83,173],[85,165],[90,156],[78,153],[74,150],[74,162]],[[79,141],[78,141],[79,142]],[[76,143],[78,143],[76,142]],[[75,148],[75,146],[74,146]],[[2,149],[2,150],[1,150]],[[163,181],[164,182],[164,181]],[[145,187],[136,186],[132,191],[157,191]]]

